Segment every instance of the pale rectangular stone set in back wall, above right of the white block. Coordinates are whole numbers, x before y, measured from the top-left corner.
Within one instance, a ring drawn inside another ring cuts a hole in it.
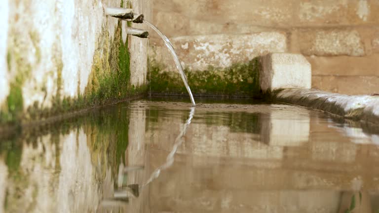
[[[301,31],[297,41],[304,55],[364,56],[365,47],[355,30]],[[296,41],[295,41],[296,42]]]

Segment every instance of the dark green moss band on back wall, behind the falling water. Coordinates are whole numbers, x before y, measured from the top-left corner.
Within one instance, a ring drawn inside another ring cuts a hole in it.
[[[189,87],[199,96],[260,96],[259,57],[248,63],[234,64],[229,68],[209,67],[205,71],[185,70]],[[178,71],[162,71],[164,66],[153,61],[150,66],[152,94],[186,95],[187,90]]]

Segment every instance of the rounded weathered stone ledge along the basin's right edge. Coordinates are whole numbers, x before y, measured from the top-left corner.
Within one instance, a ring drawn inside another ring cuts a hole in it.
[[[379,96],[350,96],[315,89],[285,89],[275,93],[273,99],[379,124]]]

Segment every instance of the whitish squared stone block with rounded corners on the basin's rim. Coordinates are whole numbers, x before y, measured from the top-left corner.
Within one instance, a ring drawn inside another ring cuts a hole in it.
[[[311,86],[311,67],[301,54],[268,54],[262,57],[262,66],[260,85],[264,92]]]

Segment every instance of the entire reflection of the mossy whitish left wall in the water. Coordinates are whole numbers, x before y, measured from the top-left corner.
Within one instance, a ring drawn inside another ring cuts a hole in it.
[[[99,204],[114,195],[114,177],[129,140],[129,110],[121,107],[9,139],[11,148],[1,150],[5,168],[0,163],[5,212],[107,212]]]

